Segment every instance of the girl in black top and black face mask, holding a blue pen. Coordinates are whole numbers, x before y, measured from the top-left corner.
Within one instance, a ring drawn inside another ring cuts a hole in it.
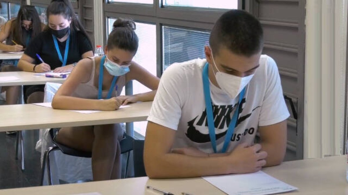
[[[18,68],[37,73],[70,72],[79,60],[93,57],[92,44],[69,0],[52,0],[46,12],[48,25],[29,43]],[[24,98],[27,103],[43,102],[44,85],[26,87]]]

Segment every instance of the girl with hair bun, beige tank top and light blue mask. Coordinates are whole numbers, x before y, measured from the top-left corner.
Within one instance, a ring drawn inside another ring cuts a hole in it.
[[[117,19],[105,46],[106,55],[79,61],[55,94],[52,107],[117,110],[127,103],[152,101],[159,78],[132,61],[138,47],[134,29],[132,20]],[[139,81],[152,91],[120,96],[122,88],[132,80]],[[56,141],[74,149],[92,152],[93,180],[118,179],[121,171],[119,141],[123,133],[119,124],[69,127],[60,129]]]

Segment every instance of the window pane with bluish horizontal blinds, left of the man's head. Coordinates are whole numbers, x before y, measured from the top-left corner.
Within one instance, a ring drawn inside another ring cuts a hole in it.
[[[209,33],[184,28],[162,27],[163,70],[176,62],[205,58],[204,46],[209,45]]]

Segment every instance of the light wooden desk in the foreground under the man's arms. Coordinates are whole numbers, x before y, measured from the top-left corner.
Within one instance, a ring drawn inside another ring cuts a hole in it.
[[[346,156],[324,159],[307,159],[284,162],[280,166],[263,169],[264,172],[298,187],[298,191],[285,194],[336,195],[348,194],[346,181]],[[105,194],[148,194],[155,192],[145,189],[146,185],[157,187],[176,195],[187,192],[193,195],[224,194],[201,178],[190,179],[148,179],[147,177],[0,190],[0,194],[46,195],[78,194],[98,192]],[[158,194],[158,193],[157,193]]]

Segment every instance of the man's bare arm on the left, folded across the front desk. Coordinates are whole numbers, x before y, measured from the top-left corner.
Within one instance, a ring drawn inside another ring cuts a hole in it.
[[[254,172],[266,163],[259,144],[240,144],[227,156],[200,157],[171,152],[176,131],[156,123],[148,123],[144,165],[150,178],[183,178]]]

